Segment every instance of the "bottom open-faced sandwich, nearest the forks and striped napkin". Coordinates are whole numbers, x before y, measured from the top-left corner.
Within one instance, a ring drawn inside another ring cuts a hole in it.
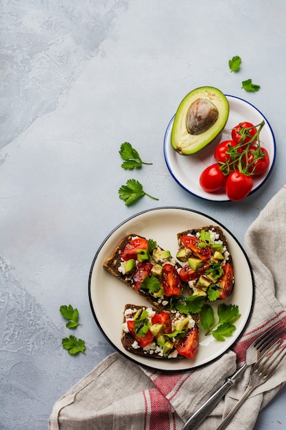
[[[198,350],[198,315],[126,304],[121,342],[126,350],[156,359],[193,359]]]

